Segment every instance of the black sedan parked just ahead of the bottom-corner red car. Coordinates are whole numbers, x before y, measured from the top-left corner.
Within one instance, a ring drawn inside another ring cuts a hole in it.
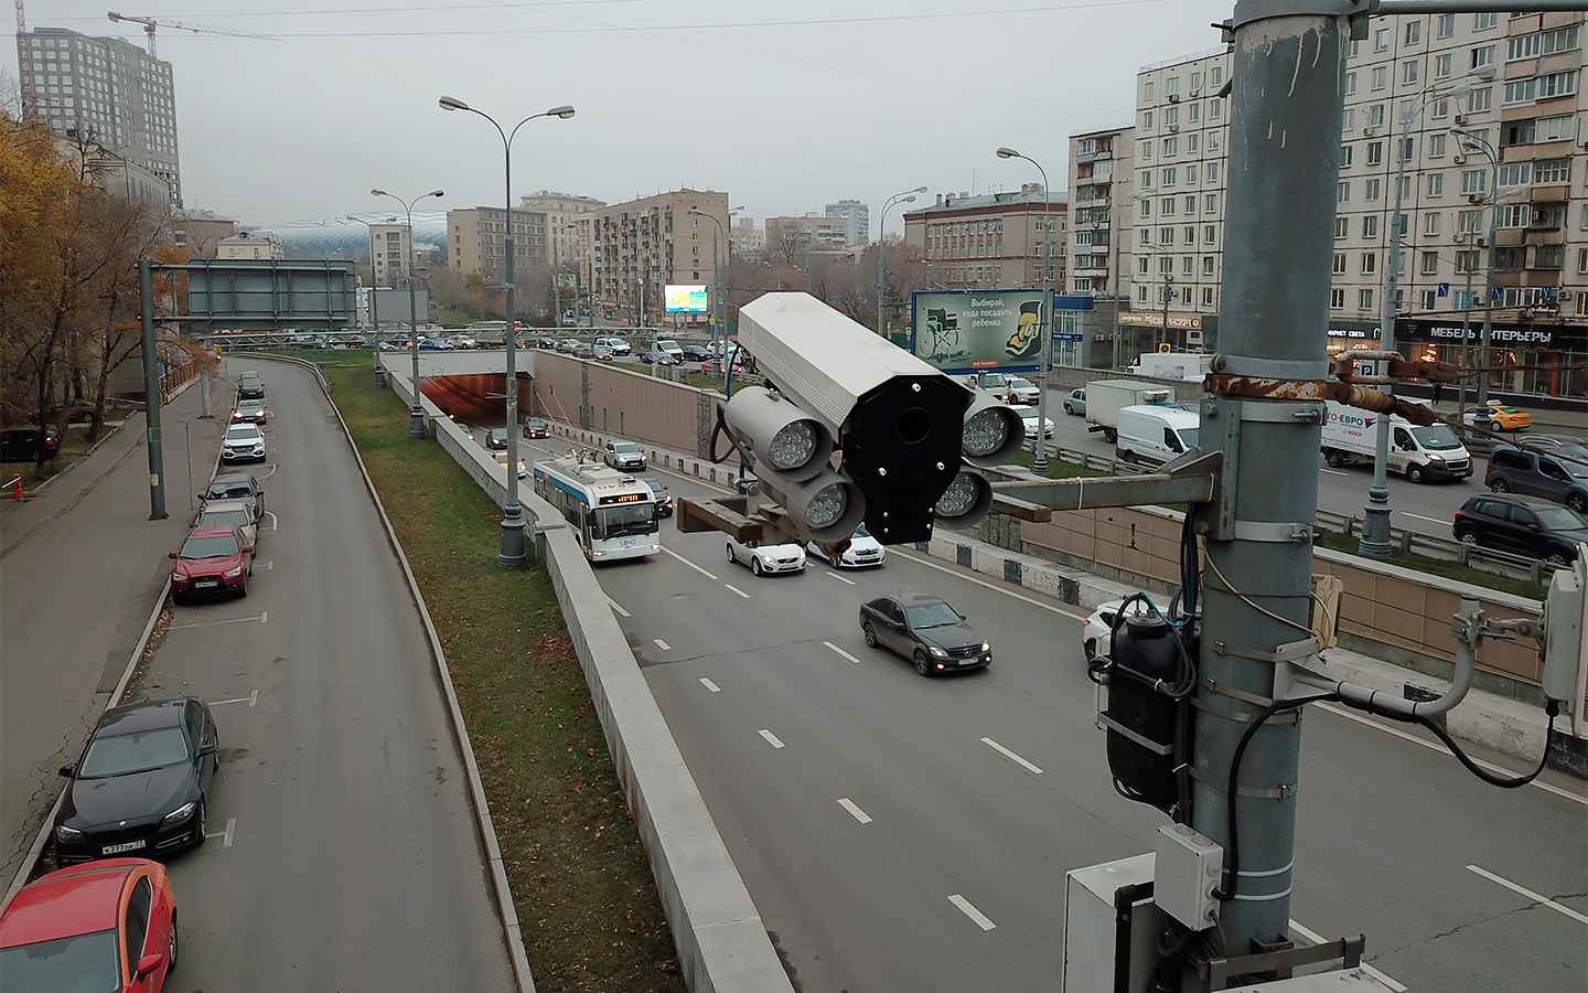
[[[210,707],[197,697],[106,710],[83,758],[60,767],[71,783],[56,815],[56,864],[202,845],[219,748]]]

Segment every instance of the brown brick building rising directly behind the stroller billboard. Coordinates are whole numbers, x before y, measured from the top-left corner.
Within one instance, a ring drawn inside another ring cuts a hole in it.
[[[1018,192],[939,194],[904,216],[904,240],[921,251],[926,278],[940,289],[1066,288],[1069,202],[1042,183]],[[1050,267],[1043,269],[1043,243]]]

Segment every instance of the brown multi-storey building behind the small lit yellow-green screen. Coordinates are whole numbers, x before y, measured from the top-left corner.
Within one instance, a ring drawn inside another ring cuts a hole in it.
[[[711,238],[718,226],[726,237],[727,222],[727,194],[713,191],[678,189],[599,208],[591,224],[597,307],[611,319],[661,324],[662,291],[669,283],[711,283]],[[726,272],[727,245],[721,246],[718,262]],[[691,321],[703,323],[705,315]]]

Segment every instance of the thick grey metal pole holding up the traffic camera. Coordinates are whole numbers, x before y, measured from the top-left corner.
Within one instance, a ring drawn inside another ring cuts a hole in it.
[[[1342,126],[1348,17],[1323,0],[1240,3],[1232,32],[1231,168],[1226,202],[1224,372],[1323,380],[1329,257]],[[1274,13],[1283,11],[1283,13]],[[1275,218],[1285,218],[1275,224]],[[1234,518],[1197,515],[1210,564],[1204,585],[1196,690],[1191,826],[1231,848],[1220,909],[1231,955],[1289,934],[1294,885],[1294,786],[1301,726],[1278,715],[1253,732],[1231,801],[1231,767],[1258,720],[1253,699],[1274,699],[1280,645],[1307,637],[1312,521],[1318,507],[1321,404],[1232,399],[1202,404],[1202,445],[1224,450]],[[1297,540],[1296,535],[1304,535]]]

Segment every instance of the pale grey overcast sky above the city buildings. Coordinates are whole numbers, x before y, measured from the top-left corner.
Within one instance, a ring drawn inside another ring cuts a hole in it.
[[[172,0],[167,0],[170,3]],[[272,3],[287,10],[268,11]],[[151,5],[152,6],[152,5]],[[276,35],[162,27],[176,79],[186,207],[243,224],[381,210],[500,205],[502,140],[457,97],[526,124],[513,197],[607,202],[726,191],[753,218],[821,213],[894,192],[1066,186],[1072,133],[1131,121],[1142,65],[1220,44],[1232,0],[186,0],[124,14]],[[29,0],[29,27],[145,43],[105,0]],[[5,10],[10,33],[16,25]],[[16,79],[16,44],[0,73]],[[391,202],[387,200],[387,205]],[[899,230],[900,208],[888,214]]]

